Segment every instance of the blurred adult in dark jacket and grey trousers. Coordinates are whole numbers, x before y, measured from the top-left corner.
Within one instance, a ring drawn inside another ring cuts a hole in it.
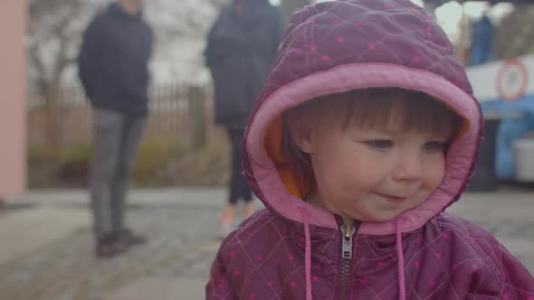
[[[142,5],[143,0],[117,0],[97,14],[83,35],[78,61],[94,108],[91,205],[99,256],[144,241],[125,226],[124,217],[129,173],[148,115],[153,37]]]

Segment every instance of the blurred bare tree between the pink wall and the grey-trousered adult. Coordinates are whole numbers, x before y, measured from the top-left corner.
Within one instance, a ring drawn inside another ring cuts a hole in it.
[[[86,0],[28,2],[28,80],[42,95],[47,141],[59,147],[58,90],[64,70],[76,60],[81,33],[96,5]]]

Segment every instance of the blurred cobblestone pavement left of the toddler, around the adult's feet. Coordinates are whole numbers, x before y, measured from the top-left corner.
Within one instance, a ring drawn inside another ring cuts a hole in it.
[[[75,204],[72,210],[87,207]],[[91,230],[76,229],[65,239],[0,266],[0,299],[101,299],[139,277],[207,278],[219,242],[219,210],[218,205],[135,204],[128,217],[134,230],[148,237],[147,245],[116,258],[97,259]]]

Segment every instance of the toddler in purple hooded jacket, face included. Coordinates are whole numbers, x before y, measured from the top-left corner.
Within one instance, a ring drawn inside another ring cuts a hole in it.
[[[408,0],[291,17],[243,142],[266,209],[218,251],[207,299],[534,299],[462,195],[482,114],[445,34]]]

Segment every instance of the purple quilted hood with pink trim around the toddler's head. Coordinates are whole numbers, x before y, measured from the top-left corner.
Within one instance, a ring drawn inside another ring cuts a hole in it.
[[[375,87],[425,92],[466,119],[462,137],[447,156],[442,185],[424,204],[405,212],[401,230],[421,227],[456,201],[472,174],[482,114],[451,43],[424,9],[408,0],[333,1],[292,16],[246,133],[244,168],[256,195],[285,218],[303,222],[303,208],[310,213],[310,224],[337,229],[331,213],[302,202],[299,192],[290,192],[295,183],[284,182],[291,176],[283,175],[287,172],[276,151],[281,136],[277,117],[312,98]],[[359,232],[395,231],[393,223],[366,223]]]

